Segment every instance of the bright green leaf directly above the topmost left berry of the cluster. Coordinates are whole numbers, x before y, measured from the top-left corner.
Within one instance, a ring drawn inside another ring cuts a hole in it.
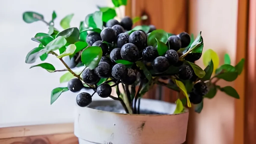
[[[116,16],[115,9],[112,7],[98,7],[102,12],[102,21],[108,22],[108,20],[113,19]]]

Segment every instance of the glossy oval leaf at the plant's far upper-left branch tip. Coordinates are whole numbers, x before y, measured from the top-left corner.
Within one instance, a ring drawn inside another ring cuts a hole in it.
[[[25,12],[23,13],[23,20],[26,23],[33,23],[38,20],[43,20],[44,16],[36,12]]]

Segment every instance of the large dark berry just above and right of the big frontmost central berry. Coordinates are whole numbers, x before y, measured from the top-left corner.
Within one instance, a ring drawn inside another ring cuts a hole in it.
[[[141,51],[145,48],[146,37],[143,32],[137,30],[129,36],[129,43],[134,44]]]

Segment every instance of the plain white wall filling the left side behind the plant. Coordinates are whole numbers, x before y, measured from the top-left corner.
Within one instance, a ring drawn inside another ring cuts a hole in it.
[[[73,105],[76,94],[63,93],[53,105],[50,105],[50,92],[59,87],[59,77],[64,74],[48,73],[35,67],[29,69],[25,63],[27,53],[38,46],[30,40],[36,33],[47,33],[48,28],[42,22],[27,24],[22,13],[36,11],[51,19],[52,11],[57,13],[56,28],[60,20],[74,13],[71,27],[79,27],[88,13],[97,10],[96,5],[107,6],[106,0],[8,0],[0,2],[0,127],[61,123],[73,121]],[[50,55],[45,62],[56,69],[64,66]],[[41,63],[40,59],[35,64]]]

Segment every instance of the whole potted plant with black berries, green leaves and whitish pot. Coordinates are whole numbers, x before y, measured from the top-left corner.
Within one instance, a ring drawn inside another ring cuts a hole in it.
[[[23,13],[26,23],[42,21],[49,26],[48,33],[31,38],[39,46],[27,54],[25,62],[33,64],[38,58],[44,61],[55,56],[66,67],[56,70],[49,63],[30,67],[42,67],[50,73],[67,71],[60,78],[67,86],[51,91],[51,104],[62,92],[78,93],[74,134],[79,143],[183,143],[191,103],[200,113],[203,99],[213,98],[217,90],[239,98],[234,88],[220,87],[216,82],[234,81],[242,72],[244,59],[232,66],[226,54],[225,64],[218,66],[218,55],[208,49],[203,55],[206,68],[202,69],[195,64],[204,46],[201,32],[194,39],[186,32],[175,35],[153,25],[133,27],[139,17],[114,19],[115,8],[126,1],[112,2],[114,8],[99,7],[79,28],[70,28],[73,14],[67,15],[60,22],[62,31],[54,27],[55,11],[50,22],[39,13]],[[155,84],[179,92],[175,104],[143,99]],[[111,95],[112,87],[117,96]],[[109,99],[92,101],[95,95]]]

